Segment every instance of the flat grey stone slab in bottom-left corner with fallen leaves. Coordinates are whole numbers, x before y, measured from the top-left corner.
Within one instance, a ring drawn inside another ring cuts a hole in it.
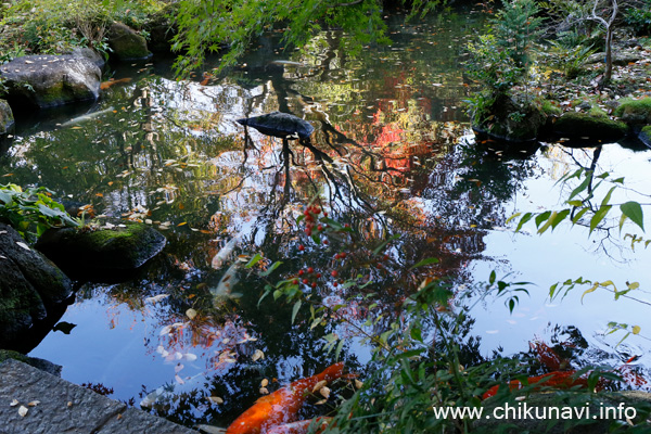
[[[0,420],[5,434],[197,433],[15,359],[0,362]],[[12,406],[14,399],[17,404]]]

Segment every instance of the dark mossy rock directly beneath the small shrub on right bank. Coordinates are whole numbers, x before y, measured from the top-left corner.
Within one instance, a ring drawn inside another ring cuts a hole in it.
[[[535,141],[546,120],[539,104],[521,103],[502,94],[482,113],[473,114],[473,129],[495,141],[523,143]]]

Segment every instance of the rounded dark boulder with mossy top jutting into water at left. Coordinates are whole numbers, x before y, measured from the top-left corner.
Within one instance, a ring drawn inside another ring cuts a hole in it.
[[[73,279],[99,279],[135,270],[163,250],[167,240],[148,225],[85,226],[49,229],[36,248]]]

